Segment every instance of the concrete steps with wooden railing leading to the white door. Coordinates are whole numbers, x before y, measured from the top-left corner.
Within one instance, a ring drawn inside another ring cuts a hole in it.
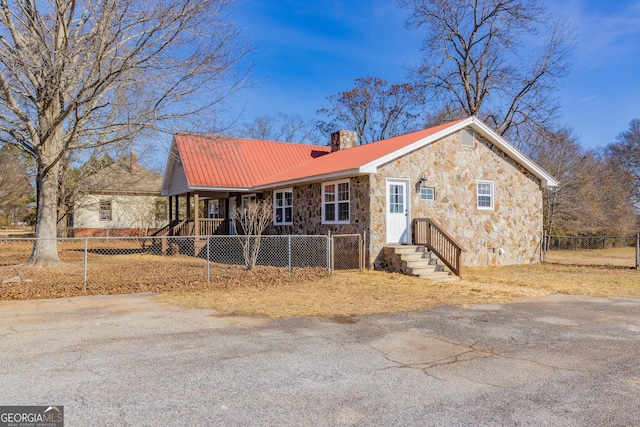
[[[387,264],[395,266],[393,270],[399,273],[429,280],[458,280],[458,276],[445,271],[438,257],[424,246],[391,245],[385,248],[385,255]]]

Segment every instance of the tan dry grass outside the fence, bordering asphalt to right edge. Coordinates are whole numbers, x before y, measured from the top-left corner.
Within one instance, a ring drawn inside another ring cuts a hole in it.
[[[465,279],[432,282],[378,271],[336,272],[285,286],[171,292],[161,301],[269,317],[351,316],[415,311],[436,305],[501,304],[550,293],[640,297],[640,273],[631,269],[557,265],[465,269]]]

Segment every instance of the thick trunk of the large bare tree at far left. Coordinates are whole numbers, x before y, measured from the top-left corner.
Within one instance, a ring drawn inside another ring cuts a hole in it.
[[[56,232],[58,225],[58,164],[48,171],[42,163],[38,165],[36,178],[38,187],[38,207],[36,219],[36,240],[28,264],[45,267],[60,263]]]

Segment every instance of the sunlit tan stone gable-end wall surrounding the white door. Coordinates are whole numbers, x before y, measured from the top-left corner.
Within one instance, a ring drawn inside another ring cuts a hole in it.
[[[386,178],[410,182],[412,218],[431,218],[462,244],[463,265],[538,261],[542,233],[540,181],[484,138],[460,145],[461,132],[378,168],[371,176],[370,250],[380,265],[386,245]],[[435,188],[420,199],[419,178]],[[494,210],[479,210],[476,180],[493,181]],[[499,254],[499,249],[504,254]]]

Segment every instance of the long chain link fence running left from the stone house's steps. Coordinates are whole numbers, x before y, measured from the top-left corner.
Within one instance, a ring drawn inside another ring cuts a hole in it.
[[[335,240],[334,240],[335,239]],[[30,271],[25,280],[108,286],[209,282],[230,268],[247,270],[265,266],[277,269],[360,268],[362,238],[355,236],[180,236],[86,237],[55,239],[63,268]],[[30,257],[35,239],[0,240],[0,279],[12,274]],[[337,245],[332,242],[337,242]],[[337,251],[332,251],[337,248]],[[333,256],[332,256],[333,255]],[[334,261],[337,258],[337,262]],[[53,277],[55,276],[55,280]],[[136,288],[138,289],[138,288]]]

